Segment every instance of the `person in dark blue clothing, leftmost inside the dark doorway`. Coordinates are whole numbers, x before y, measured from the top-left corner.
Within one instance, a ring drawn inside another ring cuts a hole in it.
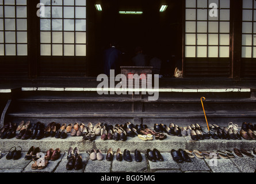
[[[110,48],[104,51],[104,74],[110,75],[110,70],[114,70],[115,74],[119,73],[121,51],[116,48],[116,42],[110,43]]]

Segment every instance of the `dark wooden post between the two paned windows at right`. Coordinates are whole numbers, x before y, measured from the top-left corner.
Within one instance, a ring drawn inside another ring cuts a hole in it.
[[[230,74],[234,80],[241,75],[242,56],[242,8],[243,1],[230,1],[230,37],[231,37],[231,67]]]

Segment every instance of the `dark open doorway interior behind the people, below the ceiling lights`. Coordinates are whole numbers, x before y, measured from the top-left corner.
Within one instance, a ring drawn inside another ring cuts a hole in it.
[[[124,53],[122,66],[131,66],[136,46],[152,57],[162,60],[162,75],[172,75],[175,66],[181,68],[182,1],[108,0],[90,2],[88,16],[89,75],[103,72],[102,53],[110,40],[119,43]],[[100,3],[102,11],[95,9]],[[162,5],[166,11],[159,12]],[[119,11],[143,11],[143,14],[119,14]],[[89,20],[90,19],[90,20]]]

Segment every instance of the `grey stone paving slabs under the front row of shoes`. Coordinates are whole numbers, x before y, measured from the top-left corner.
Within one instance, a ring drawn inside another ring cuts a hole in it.
[[[170,152],[162,152],[163,162],[151,162],[143,156],[143,161],[135,162],[134,154],[131,153],[132,162],[118,162],[114,157],[112,162],[104,160],[92,161],[89,154],[81,152],[83,168],[81,170],[66,170],[67,152],[62,152],[60,158],[49,161],[43,170],[32,170],[33,161],[25,160],[25,152],[22,152],[18,160],[7,160],[7,153],[2,153],[0,159],[0,173],[254,173],[256,169],[256,155],[254,158],[244,156],[231,159],[217,159],[216,163],[211,159],[193,158],[191,163],[176,163],[171,157]],[[104,153],[106,156],[106,153]]]

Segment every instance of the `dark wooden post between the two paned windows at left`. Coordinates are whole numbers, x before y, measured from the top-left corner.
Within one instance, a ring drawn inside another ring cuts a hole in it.
[[[37,4],[40,0],[28,0],[28,77],[36,78],[40,56],[40,17]]]

